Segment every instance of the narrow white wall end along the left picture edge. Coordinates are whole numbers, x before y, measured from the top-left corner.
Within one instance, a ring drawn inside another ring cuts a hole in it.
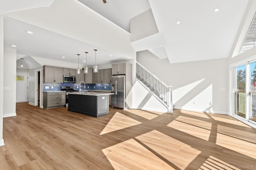
[[[0,15],[0,80],[4,79],[4,17]],[[3,101],[4,81],[0,81],[0,146],[4,145],[3,139]]]

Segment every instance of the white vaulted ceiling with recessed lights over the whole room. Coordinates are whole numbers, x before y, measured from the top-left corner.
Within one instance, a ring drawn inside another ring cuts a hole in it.
[[[0,0],[8,7],[0,7],[0,14],[17,11],[4,14],[4,45],[15,43],[17,53],[51,61],[63,61],[65,56],[66,62],[76,63],[76,54],[88,51],[88,65],[94,65],[95,48],[97,64],[134,58],[138,49],[130,42],[130,19],[151,8],[163,39],[161,49],[148,50],[160,59],[167,55],[170,63],[181,63],[228,57],[248,1],[37,0],[32,6],[31,0],[24,0],[18,11],[13,4],[19,0]],[[28,29],[35,33],[25,33]]]

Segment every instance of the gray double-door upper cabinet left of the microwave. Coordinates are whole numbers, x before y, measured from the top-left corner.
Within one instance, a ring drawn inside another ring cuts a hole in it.
[[[54,66],[43,66],[44,83],[63,83],[63,68]]]

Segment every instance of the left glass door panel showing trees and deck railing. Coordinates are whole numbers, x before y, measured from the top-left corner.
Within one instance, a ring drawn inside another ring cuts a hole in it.
[[[246,65],[235,68],[236,82],[235,82],[235,114],[246,118]]]

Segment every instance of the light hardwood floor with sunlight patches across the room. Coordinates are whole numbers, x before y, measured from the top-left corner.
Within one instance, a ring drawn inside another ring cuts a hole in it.
[[[256,129],[227,115],[113,109],[90,117],[18,103],[1,170],[256,169]]]

